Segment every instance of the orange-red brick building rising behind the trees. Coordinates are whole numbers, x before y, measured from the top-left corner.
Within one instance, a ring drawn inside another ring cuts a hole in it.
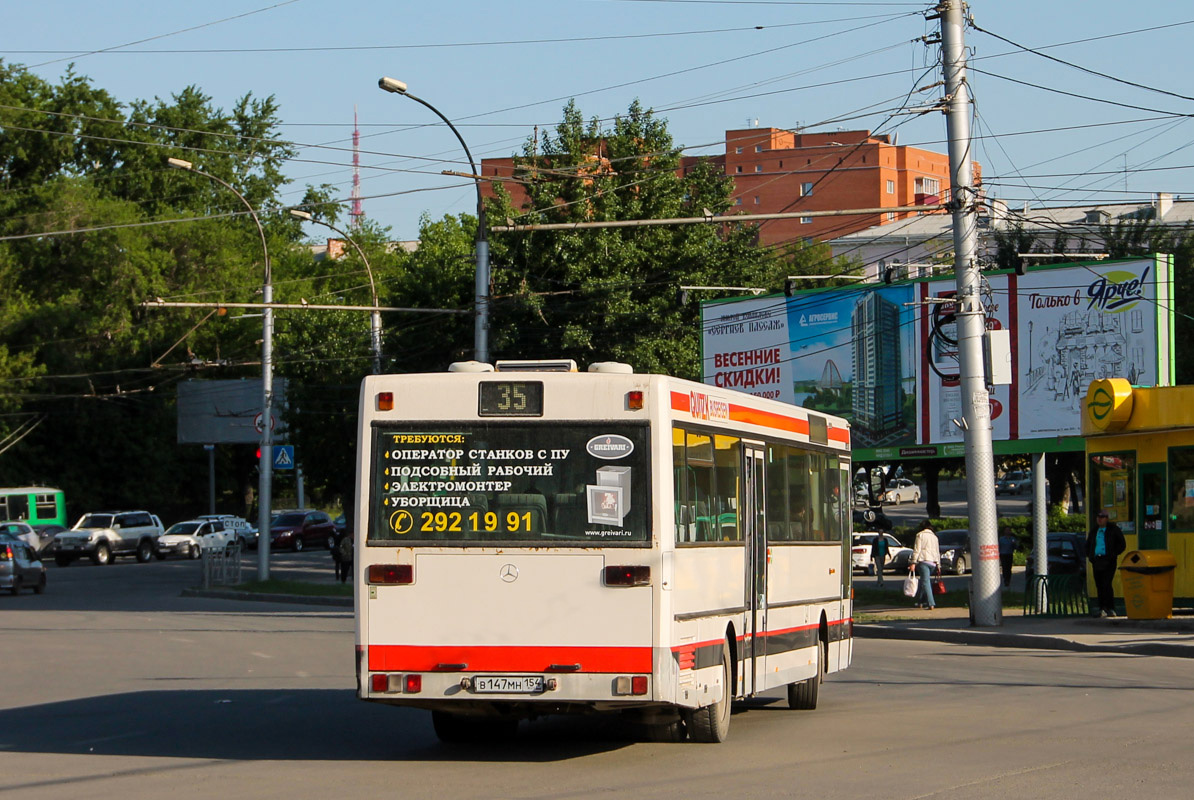
[[[731,214],[827,211],[935,203],[949,190],[949,158],[916,147],[899,146],[892,136],[869,130],[793,133],[778,128],[727,130],[725,153],[710,160],[734,180]],[[598,146],[599,147],[599,146]],[[591,156],[601,170],[601,154]],[[682,170],[698,161],[684,156]],[[608,167],[607,167],[608,168]],[[616,170],[616,165],[614,165]],[[484,159],[481,174],[510,177],[513,159]],[[980,178],[974,165],[975,181]],[[506,181],[515,204],[525,207],[519,184]],[[492,192],[488,184],[485,191]],[[759,229],[764,245],[829,240],[894,222],[909,214],[773,220]]]

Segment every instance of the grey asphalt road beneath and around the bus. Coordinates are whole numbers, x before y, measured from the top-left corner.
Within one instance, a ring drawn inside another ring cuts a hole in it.
[[[179,597],[196,577],[75,565],[0,597],[0,794],[1157,800],[1194,783],[1181,659],[858,640],[818,710],[744,704],[722,745],[556,718],[449,747],[425,713],[353,697],[347,610]]]

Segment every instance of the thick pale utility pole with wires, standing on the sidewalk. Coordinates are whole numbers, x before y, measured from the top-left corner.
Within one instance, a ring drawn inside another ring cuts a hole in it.
[[[971,97],[966,82],[966,14],[962,0],[942,0],[941,56],[946,81],[946,130],[949,139],[948,208],[954,216],[954,276],[958,295],[958,367],[961,377],[962,419],[958,420],[966,442],[966,497],[970,510],[971,623],[1003,624],[999,543],[996,533],[995,455],[991,447],[991,404],[986,388],[983,344],[986,312],[978,266],[978,197],[971,170]]]

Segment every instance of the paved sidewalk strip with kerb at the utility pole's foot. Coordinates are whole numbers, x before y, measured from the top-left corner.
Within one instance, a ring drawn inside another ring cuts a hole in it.
[[[1005,609],[1003,624],[972,627],[966,608],[933,611],[907,607],[858,607],[854,634],[862,639],[921,639],[985,647],[1069,650],[1126,656],[1194,658],[1194,613],[1177,609],[1171,620],[1024,616]]]

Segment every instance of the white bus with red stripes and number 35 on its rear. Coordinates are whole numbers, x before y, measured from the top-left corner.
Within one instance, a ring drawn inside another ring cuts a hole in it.
[[[362,700],[441,739],[621,710],[721,741],[850,664],[845,420],[624,364],[364,380]]]

